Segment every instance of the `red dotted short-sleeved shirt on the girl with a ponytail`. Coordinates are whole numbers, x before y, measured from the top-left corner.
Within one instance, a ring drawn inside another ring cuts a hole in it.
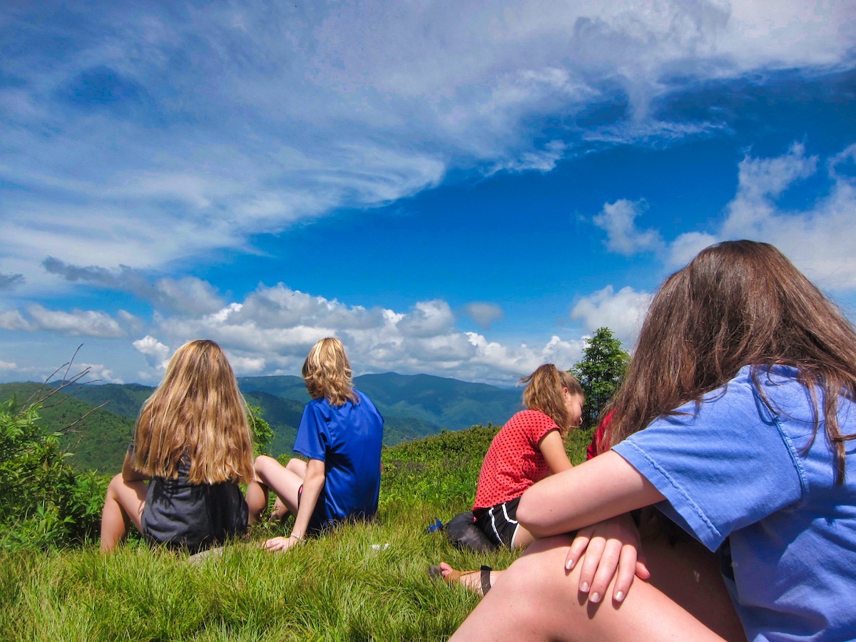
[[[473,510],[508,502],[547,477],[550,467],[538,443],[557,430],[556,422],[538,410],[524,410],[508,419],[484,455]]]

